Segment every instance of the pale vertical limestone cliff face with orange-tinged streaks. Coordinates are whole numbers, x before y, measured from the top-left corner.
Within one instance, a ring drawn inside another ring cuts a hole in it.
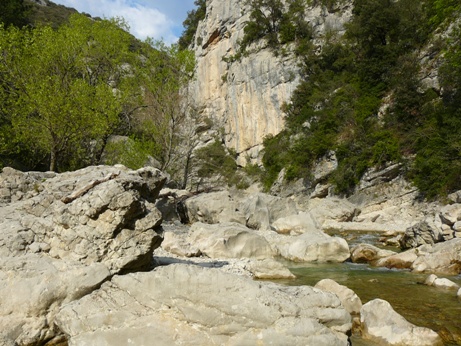
[[[315,36],[342,31],[350,6],[329,13],[314,7],[306,11]],[[196,79],[190,85],[197,109],[224,129],[225,142],[244,157],[257,158],[262,139],[284,127],[281,106],[299,83],[299,67],[293,54],[279,54],[258,42],[246,57],[233,61],[244,36],[250,10],[244,0],[208,0],[207,14],[199,24],[193,50]]]

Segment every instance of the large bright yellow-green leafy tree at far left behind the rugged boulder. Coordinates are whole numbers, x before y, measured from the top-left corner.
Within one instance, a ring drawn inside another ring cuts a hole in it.
[[[81,165],[116,129],[133,85],[126,29],[75,15],[58,30],[0,30],[4,122],[50,170]]]

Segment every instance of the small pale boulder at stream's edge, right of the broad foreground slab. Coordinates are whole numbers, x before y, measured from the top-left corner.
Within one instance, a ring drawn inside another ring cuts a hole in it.
[[[407,346],[442,344],[436,332],[408,322],[382,299],[374,299],[362,306],[360,322],[363,338],[378,344]]]

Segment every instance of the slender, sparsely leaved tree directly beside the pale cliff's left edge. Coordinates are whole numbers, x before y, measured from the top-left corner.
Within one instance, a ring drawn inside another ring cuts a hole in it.
[[[139,138],[155,144],[157,149],[152,154],[161,169],[177,178],[182,174],[185,159],[181,144],[186,142],[185,132],[193,127],[184,128],[193,116],[193,110],[185,106],[185,101],[195,58],[191,51],[163,42],[149,41],[144,48],[137,77],[144,103],[135,131]]]

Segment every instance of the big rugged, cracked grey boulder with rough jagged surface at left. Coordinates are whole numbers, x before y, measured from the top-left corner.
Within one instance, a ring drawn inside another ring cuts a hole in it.
[[[41,192],[0,210],[0,256],[46,253],[112,273],[151,264],[162,241],[153,202],[166,178],[154,168],[88,167],[41,182]]]

